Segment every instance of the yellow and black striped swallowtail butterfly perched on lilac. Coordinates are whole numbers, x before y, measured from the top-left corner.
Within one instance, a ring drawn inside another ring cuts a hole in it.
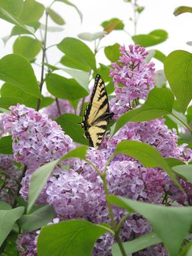
[[[102,77],[97,74],[90,103],[87,105],[83,121],[80,123],[84,129],[84,138],[90,142],[90,147],[99,149],[106,133],[109,120],[114,113],[109,111],[108,94]]]

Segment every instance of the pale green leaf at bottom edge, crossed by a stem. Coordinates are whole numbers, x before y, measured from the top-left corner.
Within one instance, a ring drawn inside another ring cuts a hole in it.
[[[159,237],[154,232],[151,232],[143,236],[140,236],[132,241],[125,242],[123,243],[123,246],[126,254],[128,255],[143,250],[157,243],[161,243],[161,239],[159,239]],[[115,256],[122,255],[120,252],[120,248],[116,243],[113,244],[112,246],[112,254]]]

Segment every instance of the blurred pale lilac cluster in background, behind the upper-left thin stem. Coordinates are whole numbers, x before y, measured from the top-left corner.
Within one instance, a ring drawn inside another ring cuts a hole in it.
[[[58,99],[58,105],[60,108],[61,115],[65,114],[65,113],[70,113],[70,114],[75,113],[74,108],[71,106],[71,104],[68,102],[68,100]],[[60,116],[60,113],[59,113],[56,101],[54,101],[47,108],[44,108],[43,113],[45,115],[49,116],[49,118],[52,118],[52,119],[58,118]]]

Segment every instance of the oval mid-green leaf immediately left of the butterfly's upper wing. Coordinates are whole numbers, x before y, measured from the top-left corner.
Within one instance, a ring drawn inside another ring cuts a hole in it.
[[[74,79],[50,74],[46,79],[47,90],[57,98],[74,101],[84,98],[88,92]]]

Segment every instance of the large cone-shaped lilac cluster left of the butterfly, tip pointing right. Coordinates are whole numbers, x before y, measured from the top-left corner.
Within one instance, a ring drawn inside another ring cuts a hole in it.
[[[31,174],[41,164],[58,159],[76,147],[72,139],[61,130],[60,125],[47,115],[42,115],[32,108],[17,104],[12,106],[4,125],[12,132],[13,152],[16,161],[27,166],[22,179],[20,195],[28,198]],[[39,204],[46,202],[47,195],[42,191]]]

